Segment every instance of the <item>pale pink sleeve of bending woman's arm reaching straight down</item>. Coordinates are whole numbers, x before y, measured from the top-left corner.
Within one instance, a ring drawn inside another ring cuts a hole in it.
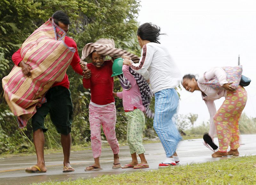
[[[216,136],[216,128],[213,122],[213,117],[216,114],[216,107],[213,100],[204,100],[205,104],[207,105],[208,111],[210,113],[210,130],[209,136],[213,139]]]

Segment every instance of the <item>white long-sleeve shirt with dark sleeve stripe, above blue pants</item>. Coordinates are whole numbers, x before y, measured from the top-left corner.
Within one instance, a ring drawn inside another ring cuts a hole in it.
[[[131,68],[150,80],[152,92],[172,89],[180,84],[181,73],[167,48],[154,42],[147,43],[141,50],[139,63]]]

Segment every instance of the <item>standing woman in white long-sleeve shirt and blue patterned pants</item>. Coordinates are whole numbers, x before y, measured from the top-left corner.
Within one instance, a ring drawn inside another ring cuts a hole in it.
[[[124,59],[124,64],[129,65],[146,80],[150,80],[155,94],[154,129],[167,157],[159,167],[176,165],[176,162],[179,162],[176,148],[181,136],[176,128],[175,116],[178,116],[179,96],[174,88],[180,83],[180,70],[167,48],[158,41],[161,35],[159,27],[145,23],[140,25],[137,35],[142,48],[140,61],[135,64],[132,60]]]

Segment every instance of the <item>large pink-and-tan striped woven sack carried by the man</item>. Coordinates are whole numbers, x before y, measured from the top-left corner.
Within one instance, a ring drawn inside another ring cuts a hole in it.
[[[14,66],[2,79],[4,97],[19,127],[27,125],[36,107],[45,102],[44,95],[55,82],[61,82],[76,51],[64,43],[65,32],[50,18],[34,31],[21,46],[21,58],[32,68],[32,76]]]

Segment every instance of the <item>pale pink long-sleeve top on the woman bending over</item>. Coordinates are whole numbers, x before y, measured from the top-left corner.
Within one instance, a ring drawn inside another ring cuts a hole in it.
[[[211,70],[205,73],[206,80],[211,80],[214,77],[217,77],[220,85],[222,86],[227,81],[227,75],[224,69],[220,67],[212,68]],[[216,107],[214,100],[220,99],[221,97],[227,96],[227,90],[225,89],[213,89],[209,85],[204,84],[206,81],[204,80],[204,75],[200,76],[197,80],[197,84],[199,89],[202,91],[202,98],[207,105],[208,111],[210,113],[210,130],[209,135],[211,138],[216,136],[216,129],[213,123],[213,117],[216,114]],[[203,94],[204,93],[204,94]]]

